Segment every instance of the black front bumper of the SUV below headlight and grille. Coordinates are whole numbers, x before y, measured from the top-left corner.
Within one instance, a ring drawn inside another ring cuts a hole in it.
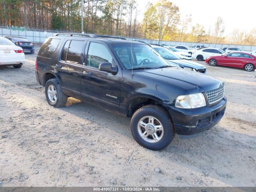
[[[226,98],[214,106],[196,109],[180,109],[167,107],[172,117],[175,131],[178,135],[198,135],[215,126],[226,110]]]

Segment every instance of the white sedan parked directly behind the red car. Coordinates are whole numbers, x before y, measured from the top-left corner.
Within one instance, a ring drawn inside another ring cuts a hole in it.
[[[203,48],[193,52],[192,58],[197,59],[198,61],[202,61],[202,60],[206,60],[206,58],[209,56],[224,55],[224,54],[226,54],[226,52],[218,48]]]

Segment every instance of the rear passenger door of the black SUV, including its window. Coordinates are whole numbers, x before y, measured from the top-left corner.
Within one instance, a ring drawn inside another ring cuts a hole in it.
[[[82,60],[86,40],[67,39],[54,66],[60,78],[62,90],[68,96],[81,97]]]

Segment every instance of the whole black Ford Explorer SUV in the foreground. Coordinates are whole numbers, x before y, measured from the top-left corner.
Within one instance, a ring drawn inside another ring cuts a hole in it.
[[[168,146],[175,133],[203,133],[226,109],[222,81],[173,67],[150,46],[116,37],[50,37],[38,53],[36,77],[51,106],[74,97],[131,117],[134,139],[151,150]]]

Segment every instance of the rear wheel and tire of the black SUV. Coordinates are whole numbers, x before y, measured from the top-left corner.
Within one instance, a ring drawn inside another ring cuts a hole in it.
[[[46,82],[45,96],[48,104],[54,107],[65,106],[68,99],[68,96],[62,92],[57,79],[50,79]]]

